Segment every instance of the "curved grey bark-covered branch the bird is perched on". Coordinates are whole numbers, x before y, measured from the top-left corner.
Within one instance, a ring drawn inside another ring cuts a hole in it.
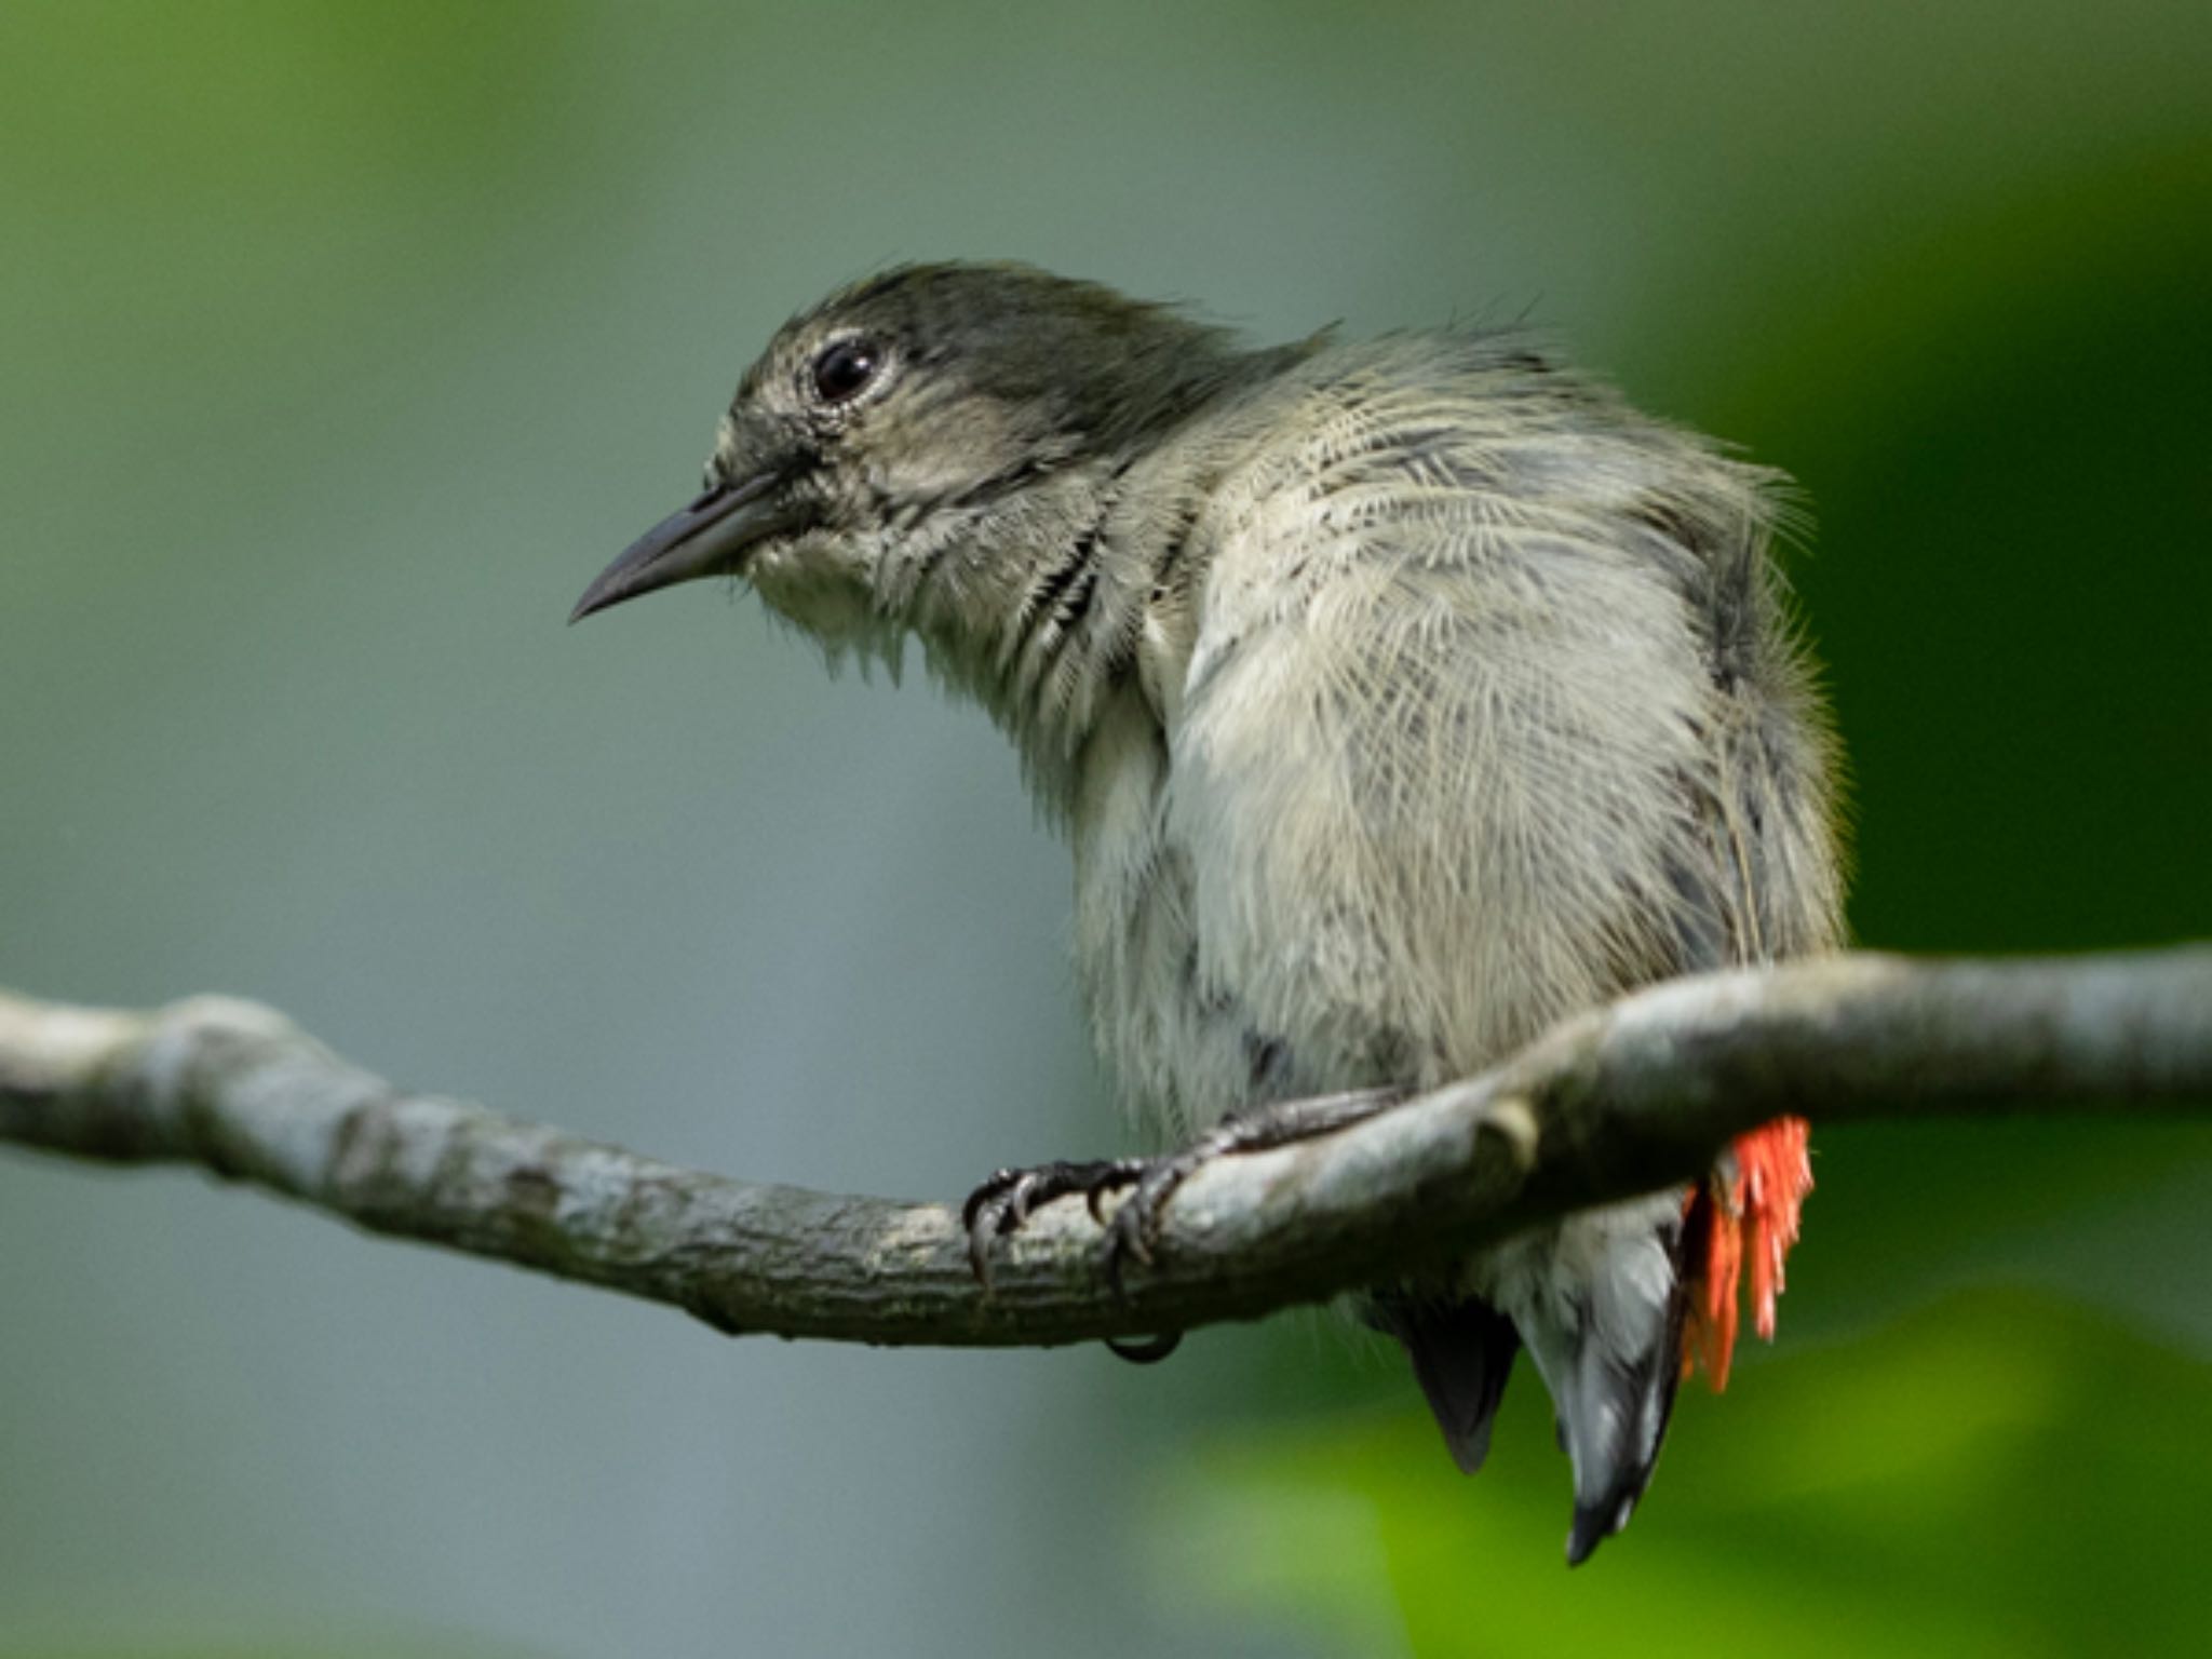
[[[1201,1168],[1124,1296],[1071,1201],[1002,1243],[984,1292],[945,1206],[730,1181],[405,1095],[250,1002],[113,1013],[0,993],[0,1141],[199,1164],[723,1332],[858,1343],[1048,1345],[1256,1318],[1694,1179],[1781,1113],[2208,1108],[2212,947],[1714,973],[1571,1020],[1354,1128]]]

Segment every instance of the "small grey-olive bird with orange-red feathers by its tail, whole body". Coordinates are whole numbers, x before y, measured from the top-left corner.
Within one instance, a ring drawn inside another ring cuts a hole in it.
[[[1073,845],[1119,1093],[1203,1155],[1650,980],[1836,945],[1838,757],[1783,520],[1776,473],[1520,330],[1248,347],[1026,265],[905,265],[776,332],[706,489],[575,617],[737,575],[832,659],[918,639]],[[1130,1181],[1141,1256],[1197,1155],[1002,1170],[978,1261],[1033,1203]],[[1807,1188],[1783,1119],[1694,1188],[1360,1312],[1467,1471],[1528,1349],[1575,1564],[1644,1495],[1690,1360],[1725,1380],[1745,1256],[1772,1334]]]

